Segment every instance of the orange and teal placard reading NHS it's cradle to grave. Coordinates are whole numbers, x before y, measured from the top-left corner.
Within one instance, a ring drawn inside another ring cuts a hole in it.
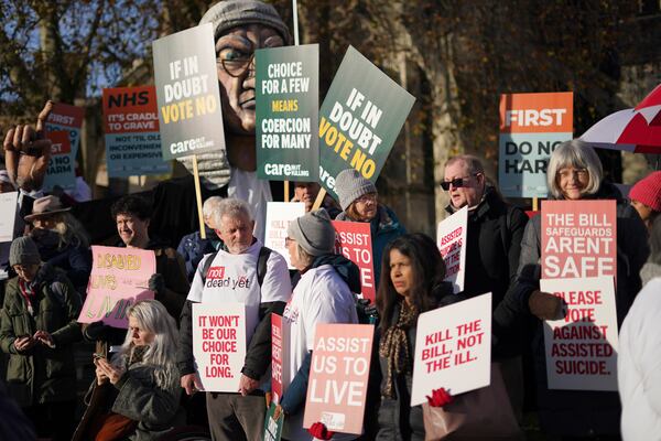
[[[154,86],[104,89],[108,176],[164,174]]]

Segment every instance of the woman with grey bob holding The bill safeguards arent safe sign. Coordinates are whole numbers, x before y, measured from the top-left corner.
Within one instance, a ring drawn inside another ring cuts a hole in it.
[[[578,140],[557,147],[551,155],[546,181],[550,197],[566,201],[615,200],[617,202],[617,283],[616,305],[621,324],[633,297],[640,290],[638,272],[648,255],[646,228],[636,211],[617,187],[603,180],[599,158],[592,147]],[[541,217],[527,225],[521,243],[518,278],[508,305],[537,316],[533,356],[538,384],[538,406],[542,429],[549,434],[568,437],[616,435],[619,433],[620,404],[616,392],[551,390],[546,383],[546,363],[542,320],[562,318],[562,300],[539,290],[541,277]]]

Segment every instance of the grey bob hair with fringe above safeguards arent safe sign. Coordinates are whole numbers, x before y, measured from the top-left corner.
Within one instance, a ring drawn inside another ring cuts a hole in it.
[[[604,178],[604,168],[595,149],[588,143],[578,139],[565,141],[551,154],[549,169],[546,170],[546,185],[551,194],[556,198],[562,197],[562,190],[557,185],[557,172],[565,166],[587,170],[589,181],[582,193],[597,193]]]

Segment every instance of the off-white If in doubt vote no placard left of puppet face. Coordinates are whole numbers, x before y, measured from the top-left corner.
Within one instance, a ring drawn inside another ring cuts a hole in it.
[[[153,42],[163,159],[225,150],[212,23]]]

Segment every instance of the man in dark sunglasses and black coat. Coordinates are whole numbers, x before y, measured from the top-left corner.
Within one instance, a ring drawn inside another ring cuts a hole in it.
[[[452,158],[445,164],[441,183],[448,193],[449,214],[468,207],[466,244],[466,279],[464,294],[468,298],[492,293],[494,361],[501,363],[503,379],[512,408],[520,417],[523,404],[520,329],[498,326],[499,308],[517,277],[521,239],[528,216],[506,203],[494,184],[488,182],[480,161],[472,155]]]

